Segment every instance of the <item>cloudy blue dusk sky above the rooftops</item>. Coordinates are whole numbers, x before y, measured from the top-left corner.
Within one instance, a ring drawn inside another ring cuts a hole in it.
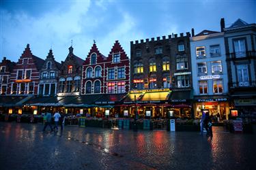
[[[130,56],[130,41],[195,29],[220,31],[238,18],[256,22],[255,0],[1,0],[0,59],[18,61],[27,44],[35,56],[46,58],[52,47],[64,61],[73,41],[83,59],[94,42],[107,56],[115,42]]]

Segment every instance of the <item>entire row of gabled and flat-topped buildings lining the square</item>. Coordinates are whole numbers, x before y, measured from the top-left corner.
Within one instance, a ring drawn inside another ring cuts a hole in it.
[[[142,117],[197,118],[201,109],[220,119],[256,114],[255,48],[256,24],[238,19],[225,28],[223,18],[221,31],[195,35],[192,29],[131,41],[130,58],[118,41],[107,57],[94,43],[85,61],[71,46],[61,63],[52,50],[42,60],[27,45],[18,63],[3,59],[1,94],[20,97],[16,106],[66,113],[96,115],[112,108],[122,116],[137,109]]]

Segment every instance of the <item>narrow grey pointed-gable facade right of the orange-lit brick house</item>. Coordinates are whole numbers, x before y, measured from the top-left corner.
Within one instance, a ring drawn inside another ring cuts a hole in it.
[[[57,94],[57,82],[61,64],[55,61],[53,50],[49,50],[44,65],[40,70],[40,82],[38,95],[55,96]]]

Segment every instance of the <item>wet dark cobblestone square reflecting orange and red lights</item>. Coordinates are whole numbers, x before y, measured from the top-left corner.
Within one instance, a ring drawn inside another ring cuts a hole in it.
[[[255,169],[256,135],[0,122],[0,169]]]

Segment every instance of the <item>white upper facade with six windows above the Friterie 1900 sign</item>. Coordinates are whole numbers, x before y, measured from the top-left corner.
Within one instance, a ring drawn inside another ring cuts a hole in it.
[[[190,37],[194,95],[224,95],[228,92],[223,33]]]

